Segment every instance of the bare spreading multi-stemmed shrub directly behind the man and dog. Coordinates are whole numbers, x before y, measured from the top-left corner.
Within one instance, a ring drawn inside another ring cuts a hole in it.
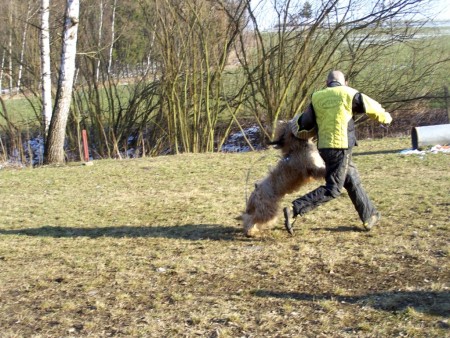
[[[374,62],[394,45],[412,41],[415,30],[408,20],[426,3],[393,0],[369,6],[359,0],[326,0],[316,7],[308,5],[304,15],[305,6],[299,1],[274,2],[276,22],[266,32],[248,2],[253,31],[242,32],[239,59],[253,93],[249,104],[268,137],[273,137],[278,119],[302,110],[330,69],[340,67],[354,79],[359,66]],[[245,45],[249,34],[255,45],[251,50]]]

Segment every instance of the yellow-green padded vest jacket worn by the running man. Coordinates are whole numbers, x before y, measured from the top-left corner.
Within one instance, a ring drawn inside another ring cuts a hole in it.
[[[357,95],[358,94],[358,95]],[[347,86],[333,86],[317,91],[312,96],[312,106],[318,127],[318,148],[347,149],[356,145],[353,113],[366,113],[381,123],[392,118],[381,105],[367,95]]]

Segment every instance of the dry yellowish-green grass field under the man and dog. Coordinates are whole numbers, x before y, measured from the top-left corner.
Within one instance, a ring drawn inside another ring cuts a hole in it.
[[[450,156],[408,147],[355,151],[380,227],[343,196],[261,239],[235,218],[275,150],[4,168],[0,337],[449,336]]]

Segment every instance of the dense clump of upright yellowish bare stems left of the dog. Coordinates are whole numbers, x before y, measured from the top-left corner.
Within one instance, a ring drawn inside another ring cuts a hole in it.
[[[224,9],[233,15],[225,15]],[[219,116],[229,108],[224,69],[238,36],[238,2],[157,1],[161,96],[174,153],[213,151]]]

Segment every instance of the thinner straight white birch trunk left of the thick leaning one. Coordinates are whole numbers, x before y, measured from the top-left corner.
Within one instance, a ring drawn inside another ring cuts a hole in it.
[[[41,81],[42,118],[44,135],[47,136],[52,119],[52,77],[50,69],[50,0],[41,1]]]

